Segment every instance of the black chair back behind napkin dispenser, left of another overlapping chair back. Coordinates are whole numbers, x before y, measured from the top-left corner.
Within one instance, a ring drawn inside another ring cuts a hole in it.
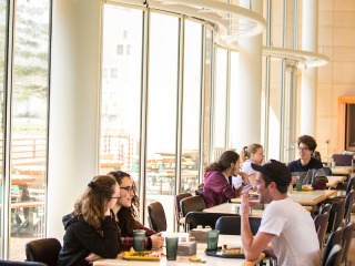
[[[196,228],[197,225],[211,226],[214,229],[221,216],[239,216],[239,214],[190,212],[185,216],[185,232]]]

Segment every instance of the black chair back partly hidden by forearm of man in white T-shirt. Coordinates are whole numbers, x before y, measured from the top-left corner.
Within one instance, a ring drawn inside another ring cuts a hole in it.
[[[248,217],[253,235],[256,235],[261,221],[260,217]],[[222,216],[216,221],[215,228],[221,235],[241,235],[241,216]]]

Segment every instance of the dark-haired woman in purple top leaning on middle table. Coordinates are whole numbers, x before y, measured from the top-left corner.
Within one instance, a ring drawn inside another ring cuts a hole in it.
[[[229,177],[241,175],[242,186],[234,188]],[[247,184],[247,174],[240,172],[240,155],[234,151],[224,152],[217,162],[205,167],[204,186],[201,195],[206,206],[212,207],[239,196],[243,187]]]

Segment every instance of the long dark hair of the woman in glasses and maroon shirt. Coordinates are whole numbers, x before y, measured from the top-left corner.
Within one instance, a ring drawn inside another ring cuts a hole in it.
[[[133,229],[134,229],[134,223],[139,218],[138,212],[139,212],[139,205],[140,205],[139,196],[136,195],[135,184],[131,175],[123,171],[112,171],[109,173],[109,175],[112,175],[115,178],[115,181],[119,183],[119,185],[122,184],[122,180],[124,177],[129,177],[132,181],[132,190],[133,190],[132,205],[131,207],[122,206],[120,211],[116,213],[116,216],[119,219],[119,226],[121,228],[121,235],[123,237],[132,236]]]

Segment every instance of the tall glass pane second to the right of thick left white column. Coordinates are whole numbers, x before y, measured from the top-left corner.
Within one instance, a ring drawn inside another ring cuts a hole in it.
[[[179,19],[151,13],[145,204],[163,204],[173,229]],[[169,196],[166,196],[169,195]]]

